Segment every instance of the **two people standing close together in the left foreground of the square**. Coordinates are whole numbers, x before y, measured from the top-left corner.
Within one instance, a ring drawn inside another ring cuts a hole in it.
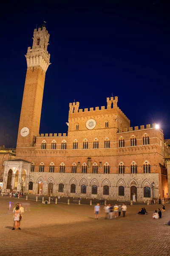
[[[17,203],[16,207],[13,209],[13,216],[14,216],[14,225],[12,230],[21,230],[20,224],[23,218],[24,207],[21,204]]]

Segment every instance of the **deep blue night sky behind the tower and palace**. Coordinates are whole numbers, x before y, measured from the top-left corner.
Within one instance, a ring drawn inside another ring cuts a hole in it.
[[[45,20],[50,34],[40,133],[65,133],[69,102],[118,106],[130,126],[159,123],[170,138],[169,1],[22,1],[0,10],[0,145],[15,147],[27,47]]]

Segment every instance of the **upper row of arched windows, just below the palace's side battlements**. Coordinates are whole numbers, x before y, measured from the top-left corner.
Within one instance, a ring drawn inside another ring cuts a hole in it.
[[[143,137],[143,145],[148,145],[149,142],[149,136],[148,135],[144,135]],[[41,149],[46,149],[46,142],[42,142],[41,143]],[[137,145],[137,140],[136,137],[131,137],[130,138],[130,146],[136,146]],[[104,142],[104,146],[105,148],[110,148],[110,140],[108,138],[106,138],[105,142]],[[51,149],[56,149],[57,147],[57,143],[56,142],[52,142],[51,143]],[[119,139],[119,148],[123,148],[125,147],[125,140],[120,138]],[[62,141],[61,143],[61,149],[66,149],[67,148],[67,143],[66,141]],[[78,148],[78,142],[77,140],[74,141],[73,143],[73,149],[77,149]],[[94,140],[93,143],[93,148],[99,148],[99,141],[97,139]],[[88,149],[88,140],[85,139],[83,141],[83,149]]]

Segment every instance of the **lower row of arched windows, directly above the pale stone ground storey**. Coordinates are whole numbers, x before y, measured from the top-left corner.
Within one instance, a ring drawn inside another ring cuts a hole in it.
[[[144,165],[143,165],[143,173],[150,173],[150,164],[149,163],[146,163],[147,161],[145,161]],[[34,172],[34,163],[31,164],[31,172]],[[41,163],[40,166],[39,166],[39,172],[44,172],[44,164]],[[49,172],[54,172],[54,164],[51,163],[50,166],[49,166]],[[84,163],[82,165],[82,173],[87,173],[87,165]],[[65,173],[65,164],[62,163],[60,166],[59,166],[59,172],[60,173]],[[75,163],[73,163],[73,165],[71,166],[71,173],[77,173],[77,165]],[[92,166],[92,173],[93,174],[98,174],[98,166],[96,163],[93,164]],[[104,165],[104,174],[110,174],[110,166],[108,163],[105,163]],[[135,174],[137,173],[137,165],[136,163],[132,163],[130,165],[130,173],[131,174]],[[119,174],[125,174],[125,165],[123,163],[120,163],[119,164]]]

